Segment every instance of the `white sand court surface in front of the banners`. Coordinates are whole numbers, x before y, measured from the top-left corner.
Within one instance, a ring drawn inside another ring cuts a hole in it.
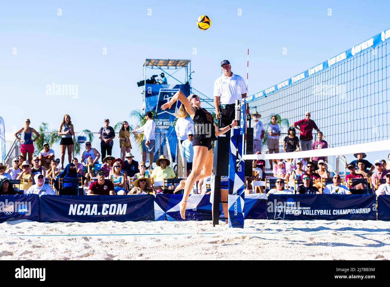
[[[172,233],[176,235],[167,235]],[[20,220],[1,223],[0,234],[0,259],[7,260],[390,259],[390,227],[385,221],[246,220],[242,230],[214,228],[209,221]]]

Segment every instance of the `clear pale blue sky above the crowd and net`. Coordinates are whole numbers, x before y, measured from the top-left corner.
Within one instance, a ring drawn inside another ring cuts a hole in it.
[[[246,78],[248,48],[254,94],[389,28],[389,8],[386,1],[2,2],[0,116],[6,132],[25,118],[58,129],[65,113],[75,130],[97,132],[104,118],[129,121],[141,109],[136,82],[145,58],[191,59],[193,87],[212,96],[222,59]],[[202,14],[211,18],[207,31],[196,27]],[[78,97],[46,95],[53,82],[77,85]],[[368,159],[387,153],[380,155]]]

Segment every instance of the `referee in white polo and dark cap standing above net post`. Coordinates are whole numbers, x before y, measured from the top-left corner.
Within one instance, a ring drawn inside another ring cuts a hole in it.
[[[223,60],[221,69],[223,75],[214,84],[214,106],[220,126],[226,127],[234,119],[236,100],[246,97],[246,84],[243,77],[232,73],[229,61]]]

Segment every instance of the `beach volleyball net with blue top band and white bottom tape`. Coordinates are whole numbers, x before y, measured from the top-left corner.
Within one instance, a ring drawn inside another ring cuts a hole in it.
[[[389,42],[390,29],[245,98],[243,158],[292,159],[389,150]],[[296,131],[299,148],[296,139],[288,136],[289,129]],[[313,146],[318,131],[328,148]],[[271,153],[275,150],[277,154]]]

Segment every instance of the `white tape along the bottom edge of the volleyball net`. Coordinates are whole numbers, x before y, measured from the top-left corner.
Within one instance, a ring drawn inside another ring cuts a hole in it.
[[[374,143],[352,144],[349,146],[338,146],[336,148],[323,148],[321,150],[305,150],[300,152],[285,152],[285,153],[265,153],[255,155],[243,155],[243,159],[258,160],[258,159],[297,159],[306,157],[326,157],[328,155],[344,155],[360,152],[380,152],[388,150],[390,140],[377,141]]]

